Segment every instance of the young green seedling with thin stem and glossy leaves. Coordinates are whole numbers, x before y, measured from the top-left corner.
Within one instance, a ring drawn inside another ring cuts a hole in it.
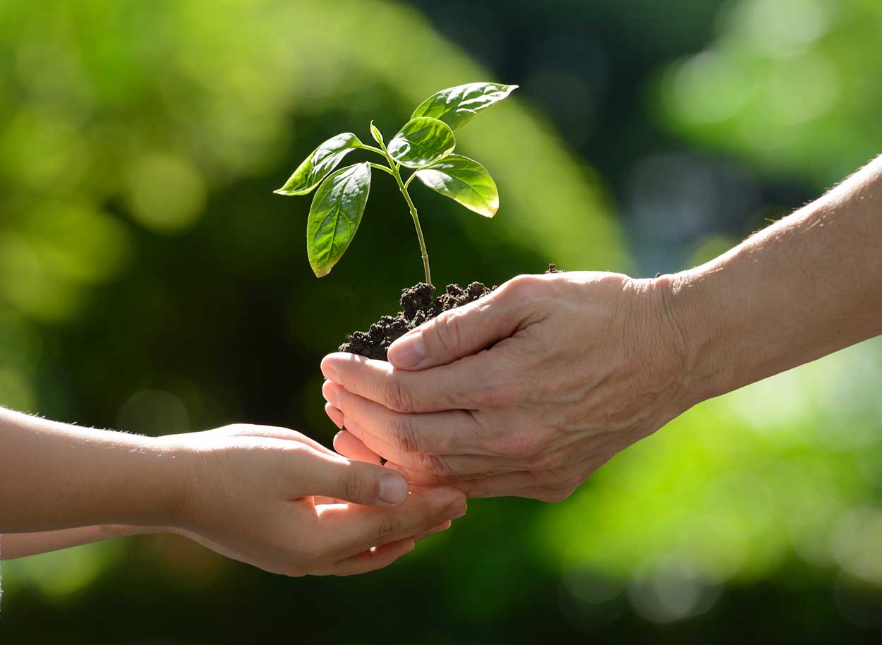
[[[370,192],[371,169],[394,177],[407,202],[422,252],[426,282],[432,283],[429,253],[422,237],[420,218],[408,188],[414,177],[433,191],[459,202],[469,210],[493,217],[499,208],[496,183],[480,163],[453,154],[453,131],[467,124],[476,114],[502,101],[516,85],[468,83],[449,87],[422,101],[410,121],[386,146],[383,134],[370,122],[370,136],[377,146],[362,143],[352,132],[343,132],[318,146],[278,191],[280,195],[305,195],[316,186],[306,225],[306,251],[317,277],[331,269],[352,243],[362,221]],[[363,161],[339,170],[340,161],[353,150],[380,155],[383,163]],[[401,169],[411,170],[407,180]]]

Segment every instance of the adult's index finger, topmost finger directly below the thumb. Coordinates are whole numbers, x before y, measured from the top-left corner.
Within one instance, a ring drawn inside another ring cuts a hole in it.
[[[325,356],[321,367],[325,379],[396,412],[506,407],[523,395],[522,370],[497,348],[424,371],[343,352]]]

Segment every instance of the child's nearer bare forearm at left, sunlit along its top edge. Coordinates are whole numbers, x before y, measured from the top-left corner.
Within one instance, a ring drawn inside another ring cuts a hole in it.
[[[0,409],[0,533],[167,525],[189,464],[163,446]]]

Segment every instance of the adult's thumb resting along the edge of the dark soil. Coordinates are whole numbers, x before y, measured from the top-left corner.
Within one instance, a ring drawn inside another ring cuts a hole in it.
[[[444,311],[407,332],[389,347],[389,363],[399,370],[424,370],[476,354],[511,336],[525,315],[519,280],[513,278],[490,295]]]

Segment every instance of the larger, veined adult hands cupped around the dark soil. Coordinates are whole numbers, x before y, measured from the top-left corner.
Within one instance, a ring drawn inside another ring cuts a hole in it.
[[[335,448],[415,484],[558,501],[691,405],[664,279],[519,276],[402,336],[325,356]]]

